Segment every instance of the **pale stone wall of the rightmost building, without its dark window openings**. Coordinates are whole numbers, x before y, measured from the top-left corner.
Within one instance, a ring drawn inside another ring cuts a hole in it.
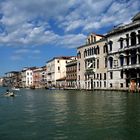
[[[139,22],[139,25],[136,26],[135,24]],[[109,33],[108,39],[108,87],[112,89],[119,89],[119,90],[126,90],[129,89],[130,82],[132,78],[135,78],[136,85],[139,86],[140,80],[138,77],[132,77],[135,72],[137,75],[140,73],[139,71],[139,55],[140,55],[140,42],[138,36],[140,35],[140,21],[132,22],[128,25],[124,25],[117,30],[113,30],[112,33]],[[113,33],[114,32],[114,33]],[[131,36],[132,33],[136,33],[136,44],[131,44]],[[110,51],[109,42],[112,41],[112,51]],[[129,40],[129,41],[127,41]],[[129,43],[129,44],[128,44]],[[135,51],[136,62],[132,64],[132,52]],[[121,66],[121,57],[123,57],[123,65]],[[110,67],[110,59],[113,59],[113,66]],[[127,64],[127,58],[129,59],[129,64]],[[113,79],[110,79],[110,73],[113,73]],[[129,76],[126,76],[126,73],[129,72]],[[123,76],[121,76],[121,73]],[[127,80],[128,78],[128,80]]]

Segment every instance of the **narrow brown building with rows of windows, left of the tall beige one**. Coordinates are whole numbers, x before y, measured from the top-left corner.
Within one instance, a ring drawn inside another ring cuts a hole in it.
[[[66,86],[77,88],[77,58],[66,64]]]

